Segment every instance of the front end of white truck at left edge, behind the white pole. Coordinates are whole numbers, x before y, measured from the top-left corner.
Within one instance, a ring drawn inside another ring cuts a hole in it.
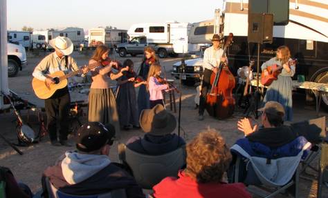
[[[18,70],[27,64],[26,51],[21,45],[7,43],[8,77],[15,77]]]

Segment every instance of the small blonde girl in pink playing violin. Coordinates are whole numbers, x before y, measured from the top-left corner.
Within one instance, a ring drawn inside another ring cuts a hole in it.
[[[169,86],[167,83],[160,83],[159,76],[161,75],[161,65],[158,63],[153,63],[150,66],[148,78],[147,78],[147,90],[149,90],[149,103],[150,108],[156,106],[156,104],[165,105],[163,103],[163,93],[162,90],[167,90]]]

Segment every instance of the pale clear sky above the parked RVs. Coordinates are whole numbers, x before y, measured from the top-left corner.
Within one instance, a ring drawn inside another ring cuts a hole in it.
[[[7,26],[8,30],[28,26],[34,30],[78,27],[86,31],[100,26],[128,30],[135,23],[195,23],[214,18],[222,1],[7,0]]]

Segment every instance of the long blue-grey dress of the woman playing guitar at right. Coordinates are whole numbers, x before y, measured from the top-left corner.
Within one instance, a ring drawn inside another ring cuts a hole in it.
[[[292,59],[289,59],[291,61]],[[281,66],[282,63],[276,57],[266,61],[262,64],[261,69],[264,70],[267,66],[272,66],[277,64],[277,66]],[[280,75],[278,75],[277,80],[273,81],[268,89],[266,90],[266,95],[264,96],[264,104],[267,101],[277,101],[284,106],[285,115],[284,121],[292,121],[293,120],[293,99],[292,99],[292,89],[293,89],[293,81],[291,77],[295,74],[295,66],[291,66],[291,71],[286,72],[283,68]]]

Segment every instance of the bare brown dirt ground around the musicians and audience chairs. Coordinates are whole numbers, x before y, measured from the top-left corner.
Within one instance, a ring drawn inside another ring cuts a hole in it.
[[[43,102],[37,99],[33,93],[30,82],[32,81],[31,73],[33,68],[39,63],[39,61],[44,57],[43,53],[39,55],[28,55],[28,66],[22,71],[19,71],[17,77],[9,78],[9,87],[14,90],[19,96],[28,101],[37,104],[38,107],[43,106]],[[87,63],[91,55],[80,55],[78,52],[74,52],[73,57],[78,62],[79,66]],[[118,57],[118,56],[116,56]],[[141,56],[139,57],[127,57],[134,61],[135,70],[138,69],[140,65]],[[121,59],[124,61],[124,59]],[[167,78],[172,78],[170,75],[170,70],[172,69],[172,64],[176,61],[180,61],[179,58],[167,58],[161,59],[161,64],[165,66],[167,72]],[[179,81],[175,81],[176,86],[179,86]],[[204,121],[197,120],[197,110],[195,110],[194,96],[196,95],[196,90],[194,86],[182,86],[182,97],[181,97],[181,137],[186,141],[190,141],[192,137],[197,135],[201,130],[208,127],[215,128],[221,135],[226,139],[228,146],[232,146],[233,143],[243,135],[237,130],[237,120],[243,117],[244,110],[235,110],[233,117],[225,120],[217,120],[212,117],[205,115]],[[179,95],[176,94],[176,110],[179,110]],[[167,105],[170,109],[170,106]],[[306,119],[311,119],[317,117],[316,110],[314,106],[305,106],[304,94],[295,93],[293,95],[293,112],[294,121],[302,121]],[[84,108],[84,117],[81,120],[85,120],[86,108]],[[21,110],[21,115],[24,121],[28,120],[33,126],[35,132],[39,130],[39,125],[37,123],[37,117],[35,112],[31,110]],[[178,112],[174,113],[176,118],[178,118]],[[325,110],[320,111],[320,115],[325,115],[327,117],[327,112]],[[254,117],[254,116],[253,116]],[[254,122],[259,122],[259,119],[254,119]],[[73,123],[77,125],[77,123]],[[12,112],[8,112],[0,115],[0,126],[1,134],[5,136],[12,143],[17,143],[17,137],[15,132],[15,116]],[[178,129],[176,128],[176,133]],[[118,161],[117,155],[117,145],[118,143],[125,143],[129,137],[141,136],[143,132],[141,130],[122,130],[118,135],[118,141],[116,141],[110,152],[110,158],[112,161]],[[72,139],[73,141],[73,139]],[[44,137],[40,143],[35,143],[28,147],[19,147],[24,155],[18,155],[15,150],[10,148],[2,139],[0,139],[0,165],[9,167],[14,173],[15,177],[19,180],[28,184],[33,192],[37,192],[41,188],[41,175],[47,166],[53,164],[60,155],[62,155],[66,150],[73,150],[74,148],[67,147],[53,147],[51,146],[48,137]],[[316,181],[300,179],[300,197],[316,197]],[[322,195],[328,197],[327,187],[323,188]],[[280,195],[279,197],[284,197]]]

